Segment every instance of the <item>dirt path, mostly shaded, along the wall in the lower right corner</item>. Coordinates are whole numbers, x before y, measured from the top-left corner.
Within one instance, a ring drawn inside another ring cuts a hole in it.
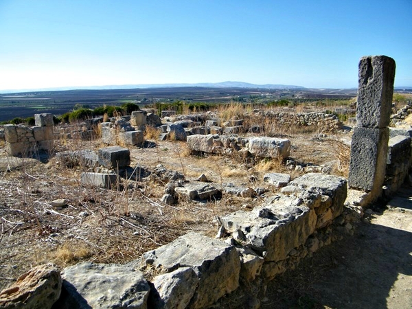
[[[262,308],[412,308],[412,188],[268,286]]]

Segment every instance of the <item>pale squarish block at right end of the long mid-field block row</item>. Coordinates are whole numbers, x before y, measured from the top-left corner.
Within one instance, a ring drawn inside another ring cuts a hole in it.
[[[246,148],[255,157],[286,159],[290,153],[290,141],[275,137],[251,137]]]

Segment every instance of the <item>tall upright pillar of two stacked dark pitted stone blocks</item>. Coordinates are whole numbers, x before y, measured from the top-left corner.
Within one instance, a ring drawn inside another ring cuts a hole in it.
[[[389,141],[395,60],[366,56],[359,62],[357,126],[352,136],[348,185],[371,192],[371,201],[382,193]]]

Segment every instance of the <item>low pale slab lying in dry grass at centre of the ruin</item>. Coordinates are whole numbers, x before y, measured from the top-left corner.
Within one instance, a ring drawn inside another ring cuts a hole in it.
[[[211,200],[222,196],[222,192],[210,183],[185,183],[183,187],[176,187],[174,191],[181,198],[196,201]]]

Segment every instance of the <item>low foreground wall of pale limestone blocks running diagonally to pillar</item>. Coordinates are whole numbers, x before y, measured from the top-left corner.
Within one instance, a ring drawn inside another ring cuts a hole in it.
[[[253,211],[216,218],[218,239],[192,232],[128,264],[69,266],[62,271],[65,293],[58,304],[205,308],[238,288],[260,290],[267,280],[331,242],[319,229],[341,215],[347,182],[312,173],[282,192]],[[148,272],[150,279],[144,277]],[[115,293],[108,295],[108,290]]]

